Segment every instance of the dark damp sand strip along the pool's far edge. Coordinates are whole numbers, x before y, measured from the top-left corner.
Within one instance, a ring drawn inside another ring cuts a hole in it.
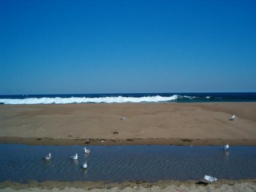
[[[189,139],[189,138],[127,138],[125,140],[100,140],[100,139],[54,139],[54,138],[19,138],[0,137],[1,144],[27,144],[27,145],[240,145],[256,146],[256,140],[232,139]]]

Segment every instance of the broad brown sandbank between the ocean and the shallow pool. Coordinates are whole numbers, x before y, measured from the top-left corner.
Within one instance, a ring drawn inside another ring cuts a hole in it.
[[[0,105],[0,130],[31,145],[256,145],[256,102]]]

